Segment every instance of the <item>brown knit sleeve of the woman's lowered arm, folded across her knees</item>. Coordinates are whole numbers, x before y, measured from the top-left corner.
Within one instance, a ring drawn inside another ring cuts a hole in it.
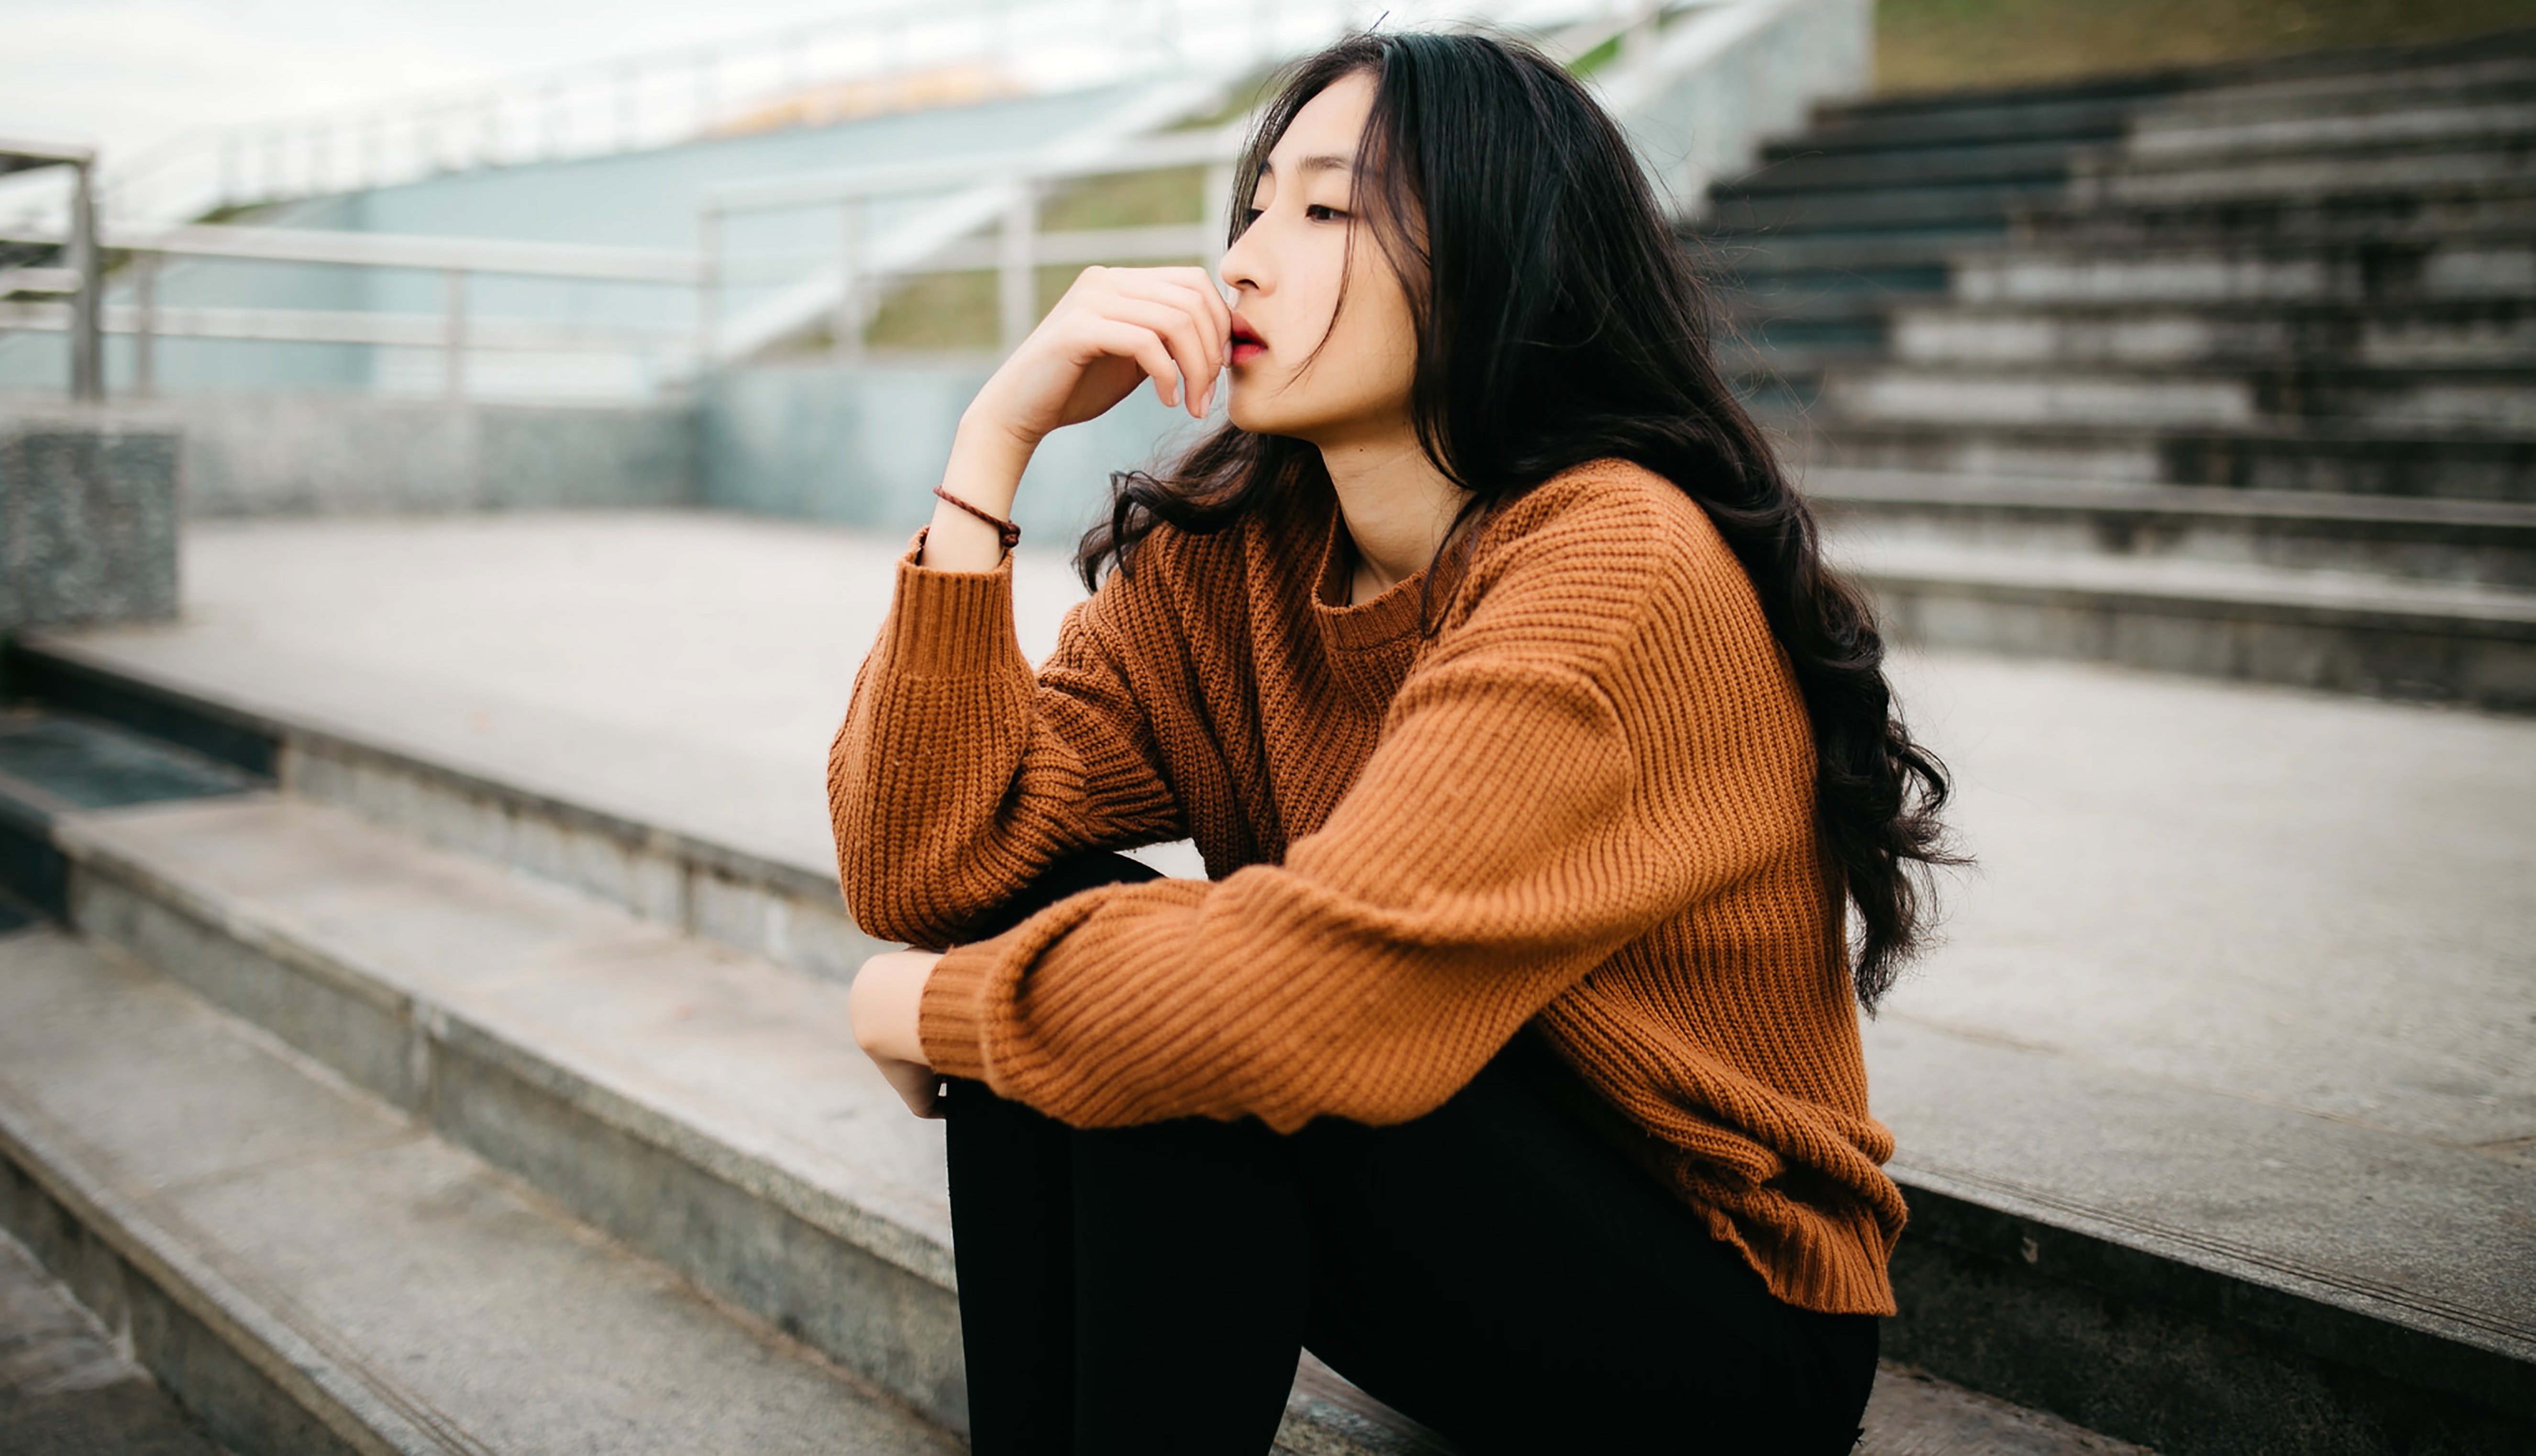
[[[1699,682],[1697,644],[1643,662],[1664,647],[1648,604],[1681,594],[1613,591],[1608,563],[1555,548],[1519,576],[1410,672],[1362,776],[1286,862],[1075,895],[943,956],[931,1063],[1075,1126],[1407,1121],[1773,852],[1719,799],[1740,764],[1643,761],[1681,753],[1659,720],[1669,682],[1732,692]]]

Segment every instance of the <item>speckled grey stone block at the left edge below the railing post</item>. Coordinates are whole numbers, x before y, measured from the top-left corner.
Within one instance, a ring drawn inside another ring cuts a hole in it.
[[[0,627],[175,616],[175,477],[165,431],[0,419]]]

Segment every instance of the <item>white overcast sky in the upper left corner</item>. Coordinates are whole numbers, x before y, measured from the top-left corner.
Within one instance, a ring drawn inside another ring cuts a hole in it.
[[[837,0],[0,0],[0,137],[109,157],[553,66],[751,38]]]

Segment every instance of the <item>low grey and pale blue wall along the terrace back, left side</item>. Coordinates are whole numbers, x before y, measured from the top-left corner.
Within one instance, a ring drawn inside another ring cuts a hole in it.
[[[185,517],[708,505],[915,530],[933,515],[959,413],[992,370],[756,365],[725,370],[702,401],[644,408],[238,393],[112,401],[79,419],[157,441]],[[0,396],[0,431],[58,413],[58,401]],[[1197,429],[1139,391],[1058,431],[1014,502],[1025,535],[1070,543],[1106,510],[1113,469]]]

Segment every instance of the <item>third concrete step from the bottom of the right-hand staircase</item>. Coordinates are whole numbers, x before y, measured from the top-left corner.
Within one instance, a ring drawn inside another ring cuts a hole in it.
[[[1816,467],[1965,477],[2062,477],[2115,484],[2222,484],[2452,500],[2536,500],[2536,436],[2470,429],[2358,431],[2295,426],[2110,426],[2072,421],[1849,421],[1793,429]]]

